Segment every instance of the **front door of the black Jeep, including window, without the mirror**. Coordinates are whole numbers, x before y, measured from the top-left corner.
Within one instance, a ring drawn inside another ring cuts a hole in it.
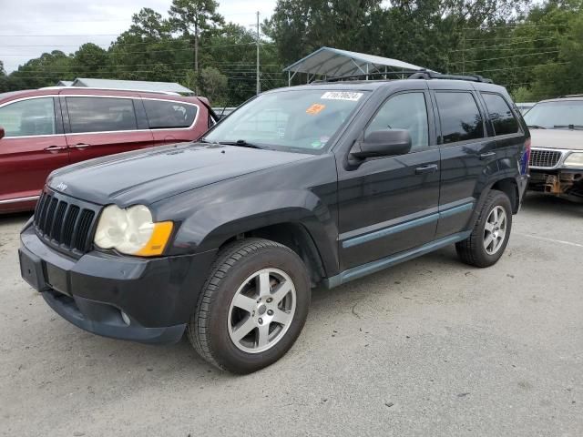
[[[407,129],[407,155],[338,166],[341,270],[421,246],[434,239],[439,200],[439,149],[431,100],[424,89],[389,97],[363,137]]]

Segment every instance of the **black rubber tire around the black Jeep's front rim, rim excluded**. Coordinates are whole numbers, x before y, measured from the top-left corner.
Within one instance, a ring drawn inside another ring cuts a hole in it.
[[[271,349],[241,351],[230,339],[231,300],[245,279],[261,269],[280,269],[293,282],[295,313],[289,328]],[[293,345],[308,316],[310,278],[302,259],[292,250],[268,239],[243,239],[220,250],[210,269],[187,332],[199,355],[214,366],[233,373],[251,373],[278,361]]]

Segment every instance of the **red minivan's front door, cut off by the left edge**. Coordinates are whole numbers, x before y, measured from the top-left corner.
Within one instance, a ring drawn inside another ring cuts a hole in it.
[[[58,105],[56,97],[44,96],[0,106],[0,126],[5,128],[0,139],[0,206],[34,201],[48,174],[69,163]]]

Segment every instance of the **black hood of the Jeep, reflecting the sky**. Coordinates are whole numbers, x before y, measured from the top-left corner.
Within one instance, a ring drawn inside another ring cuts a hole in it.
[[[221,180],[312,155],[249,147],[177,144],[91,159],[53,172],[48,186],[74,198],[119,207],[149,205]]]

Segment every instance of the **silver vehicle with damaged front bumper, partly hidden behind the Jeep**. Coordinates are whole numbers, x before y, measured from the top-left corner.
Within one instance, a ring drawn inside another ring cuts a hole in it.
[[[583,95],[543,100],[524,117],[532,136],[529,189],[583,201]]]

